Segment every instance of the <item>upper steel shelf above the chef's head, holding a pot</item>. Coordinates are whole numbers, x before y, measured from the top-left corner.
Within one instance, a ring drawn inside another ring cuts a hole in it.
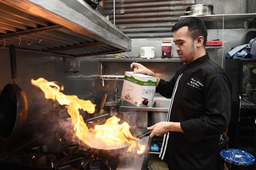
[[[203,15],[203,16],[181,16],[180,19],[187,17],[200,18],[202,21],[243,21],[247,28],[249,23],[256,18],[256,13],[251,14],[221,14],[221,15]]]

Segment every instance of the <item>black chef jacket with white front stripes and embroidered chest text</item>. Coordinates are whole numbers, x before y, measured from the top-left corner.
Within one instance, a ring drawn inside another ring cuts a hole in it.
[[[159,158],[170,170],[213,170],[220,134],[230,120],[231,82],[206,54],[179,67],[156,92],[172,98],[167,121],[180,122],[184,133],[165,134]]]

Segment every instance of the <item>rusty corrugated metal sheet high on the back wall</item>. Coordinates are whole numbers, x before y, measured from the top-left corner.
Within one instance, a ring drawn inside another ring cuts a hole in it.
[[[113,0],[105,1],[105,9],[113,9]],[[172,27],[194,0],[124,0],[124,12],[115,15],[119,28]],[[119,1],[115,9],[119,10]],[[113,15],[110,16],[113,22]]]

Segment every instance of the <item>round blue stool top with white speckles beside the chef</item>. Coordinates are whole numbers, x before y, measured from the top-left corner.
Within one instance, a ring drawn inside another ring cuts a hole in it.
[[[224,161],[240,166],[252,165],[255,161],[253,155],[238,149],[224,149],[220,152],[220,157]]]

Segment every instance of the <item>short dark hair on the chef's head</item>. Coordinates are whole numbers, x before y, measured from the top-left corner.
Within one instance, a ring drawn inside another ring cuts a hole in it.
[[[180,19],[176,24],[174,24],[172,32],[175,32],[176,30],[184,26],[188,27],[188,32],[190,33],[193,40],[195,40],[199,36],[202,36],[204,38],[203,45],[206,45],[207,28],[201,19],[196,17],[187,17]]]

